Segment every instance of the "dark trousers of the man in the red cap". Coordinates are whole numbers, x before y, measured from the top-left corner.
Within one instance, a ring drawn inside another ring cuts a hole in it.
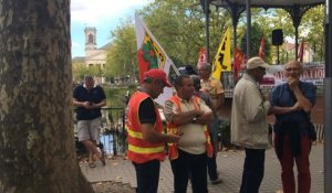
[[[136,193],[157,193],[159,182],[160,161],[153,160],[146,163],[134,163],[136,170]]]

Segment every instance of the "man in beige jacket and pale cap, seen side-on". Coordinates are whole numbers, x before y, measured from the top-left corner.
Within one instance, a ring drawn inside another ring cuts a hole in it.
[[[234,90],[231,142],[246,150],[240,193],[259,192],[264,172],[264,151],[271,146],[267,121],[271,105],[259,88],[268,67],[260,57],[250,58]]]

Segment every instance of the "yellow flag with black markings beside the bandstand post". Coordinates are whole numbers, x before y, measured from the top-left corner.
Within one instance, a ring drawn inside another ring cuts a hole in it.
[[[220,79],[221,72],[230,72],[230,29],[224,34],[212,64],[212,77]]]

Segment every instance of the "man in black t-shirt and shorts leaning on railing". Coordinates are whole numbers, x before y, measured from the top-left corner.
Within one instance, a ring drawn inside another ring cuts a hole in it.
[[[104,154],[97,150],[101,126],[101,108],[106,105],[106,96],[102,87],[94,86],[92,76],[84,77],[84,85],[74,89],[73,105],[77,107],[77,136],[90,152],[89,165],[94,168],[94,156],[96,156],[105,165]]]

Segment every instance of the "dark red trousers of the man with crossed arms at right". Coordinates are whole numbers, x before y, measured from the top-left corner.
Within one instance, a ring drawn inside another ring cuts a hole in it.
[[[274,141],[278,141],[279,136],[276,135]],[[276,143],[274,143],[276,144]],[[276,148],[277,149],[277,148]],[[311,151],[311,140],[308,136],[301,137],[301,153],[294,156],[292,152],[291,141],[288,136],[283,138],[283,152],[279,159],[281,164],[281,180],[284,193],[295,192],[295,179],[293,167],[294,162],[298,167],[298,192],[310,193],[311,186],[311,174],[310,174],[310,162],[309,154]]]

